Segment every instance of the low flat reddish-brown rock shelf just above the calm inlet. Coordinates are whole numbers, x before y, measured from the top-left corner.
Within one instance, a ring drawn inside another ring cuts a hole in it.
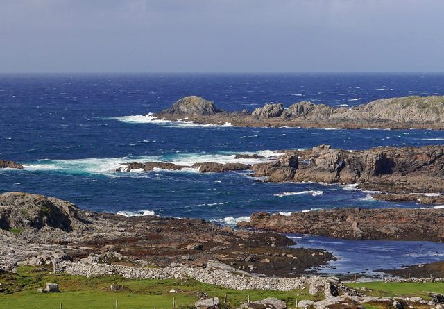
[[[289,216],[253,213],[241,228],[321,235],[350,240],[429,240],[444,242],[444,209],[334,208]]]

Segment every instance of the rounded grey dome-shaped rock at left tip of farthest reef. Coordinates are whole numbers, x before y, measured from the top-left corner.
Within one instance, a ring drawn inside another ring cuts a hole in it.
[[[207,101],[202,97],[190,96],[182,98],[176,103],[160,112],[158,115],[200,115],[200,116],[211,116],[218,112],[224,112],[224,110],[219,110],[214,106],[214,102]]]

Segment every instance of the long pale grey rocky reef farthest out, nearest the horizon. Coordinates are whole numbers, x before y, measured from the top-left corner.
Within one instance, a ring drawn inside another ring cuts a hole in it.
[[[227,112],[212,101],[190,96],[173,103],[171,108],[157,112],[160,119],[178,120],[187,117],[197,124],[225,124],[251,127],[305,128],[430,128],[444,129],[444,96],[400,97],[380,99],[352,108],[332,108],[309,101],[284,108],[283,103],[266,104],[253,112]]]

